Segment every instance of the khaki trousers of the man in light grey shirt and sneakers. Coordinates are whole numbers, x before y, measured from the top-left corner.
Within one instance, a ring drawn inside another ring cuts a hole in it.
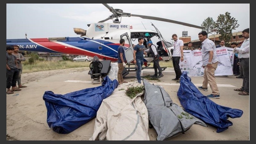
[[[215,79],[215,70],[218,67],[218,61],[212,64],[212,69],[208,69],[207,67],[204,67],[204,81],[203,81],[203,88],[207,88],[208,83],[211,87],[212,90],[212,94],[214,95],[219,95],[219,89],[216,83],[216,79]]]

